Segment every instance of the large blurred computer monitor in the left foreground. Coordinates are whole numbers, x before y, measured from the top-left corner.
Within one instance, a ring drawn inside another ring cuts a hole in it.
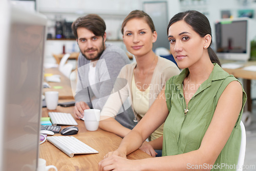
[[[0,170],[36,170],[47,19],[0,2]]]

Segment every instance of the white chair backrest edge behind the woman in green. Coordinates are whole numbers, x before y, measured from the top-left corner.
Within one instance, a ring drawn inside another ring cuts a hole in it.
[[[238,157],[237,171],[243,170],[245,148],[246,148],[246,132],[245,132],[244,123],[242,121],[240,122],[240,126],[242,131],[242,137],[241,137],[240,152]]]

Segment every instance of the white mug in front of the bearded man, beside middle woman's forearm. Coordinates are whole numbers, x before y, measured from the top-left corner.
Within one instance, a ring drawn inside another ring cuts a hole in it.
[[[96,131],[99,127],[100,110],[86,109],[84,110],[84,124],[88,131]]]

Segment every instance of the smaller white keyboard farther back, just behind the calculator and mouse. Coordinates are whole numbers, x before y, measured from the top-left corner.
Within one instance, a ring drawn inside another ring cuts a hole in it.
[[[49,112],[53,125],[78,125],[70,113]]]

